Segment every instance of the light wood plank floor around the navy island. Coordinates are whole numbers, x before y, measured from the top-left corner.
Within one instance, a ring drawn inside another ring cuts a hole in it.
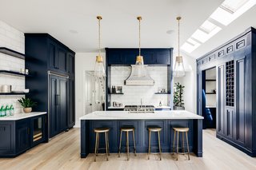
[[[94,162],[94,155],[90,154],[86,159],[80,158],[80,129],[74,128],[70,132],[50,140],[47,144],[40,144],[28,152],[12,159],[0,159],[0,169],[256,169],[256,158],[251,158],[238,149],[226,144],[215,137],[214,130],[203,132],[203,157],[179,156],[174,160],[170,153],[164,153],[162,161],[158,156],[152,155],[147,160],[146,154],[138,156],[130,155],[130,161],[126,161],[126,155],[118,158],[117,154],[111,154],[110,160],[106,161],[105,156],[98,156]]]

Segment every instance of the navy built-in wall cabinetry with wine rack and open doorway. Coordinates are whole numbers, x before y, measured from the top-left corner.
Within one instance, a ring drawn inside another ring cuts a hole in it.
[[[217,137],[250,156],[256,156],[255,50],[256,30],[249,28],[197,60],[198,74],[217,65]]]

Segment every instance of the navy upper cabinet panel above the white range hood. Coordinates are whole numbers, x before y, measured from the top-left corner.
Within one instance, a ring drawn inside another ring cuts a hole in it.
[[[170,65],[172,49],[142,49],[145,65]],[[107,65],[134,65],[138,49],[106,48]]]

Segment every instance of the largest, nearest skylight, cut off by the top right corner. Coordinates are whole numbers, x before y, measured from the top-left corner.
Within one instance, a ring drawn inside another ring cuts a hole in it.
[[[210,18],[227,26],[255,4],[256,0],[226,0],[210,15]]]

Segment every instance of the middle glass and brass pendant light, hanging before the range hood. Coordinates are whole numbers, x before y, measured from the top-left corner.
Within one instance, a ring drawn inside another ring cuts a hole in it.
[[[141,21],[142,17],[137,17],[138,19],[138,56],[136,57],[136,63],[134,67],[134,76],[145,77],[146,69],[144,66],[143,56],[141,55]]]

